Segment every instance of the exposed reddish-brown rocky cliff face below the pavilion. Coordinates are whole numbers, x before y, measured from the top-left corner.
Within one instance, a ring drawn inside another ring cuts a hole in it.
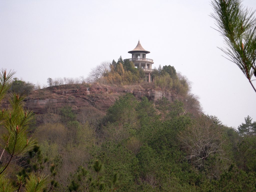
[[[166,97],[170,101],[174,101],[177,98],[176,94],[171,91],[157,91],[150,87],[73,84],[33,91],[26,98],[25,107],[37,114],[55,112],[58,108],[65,105],[71,106],[73,110],[94,108],[95,110],[105,112],[119,96],[126,93],[132,93],[137,99],[145,96],[151,101],[157,101],[157,99],[162,97]],[[6,107],[7,105],[8,102],[4,102],[3,106]]]

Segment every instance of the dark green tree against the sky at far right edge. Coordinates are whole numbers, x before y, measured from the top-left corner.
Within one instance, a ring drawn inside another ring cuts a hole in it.
[[[248,115],[244,118],[245,123],[238,126],[240,135],[255,135],[256,134],[256,121],[252,122],[252,118]]]

